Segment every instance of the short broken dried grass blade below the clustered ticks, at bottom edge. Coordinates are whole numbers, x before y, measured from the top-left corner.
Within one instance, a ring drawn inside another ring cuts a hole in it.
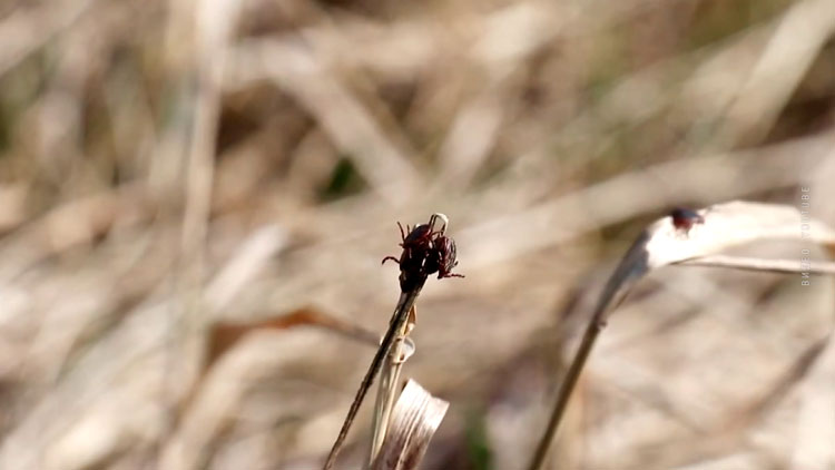
[[[394,407],[391,429],[372,470],[414,470],[450,403],[410,380]]]

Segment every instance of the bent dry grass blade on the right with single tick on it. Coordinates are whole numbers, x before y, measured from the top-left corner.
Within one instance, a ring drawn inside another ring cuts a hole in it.
[[[611,311],[623,300],[629,290],[650,271],[670,265],[696,263],[698,260],[717,260],[716,256],[728,248],[757,241],[784,239],[809,242],[828,248],[835,248],[835,229],[808,214],[785,205],[730,202],[717,204],[697,210],[704,222],[695,224],[689,231],[676,228],[669,216],[650,224],[627,251],[615,273],[609,277],[603,292],[598,298],[595,312],[586,329],[580,346],[574,354],[571,366],[566,373],[557,402],[540,440],[529,470],[542,468],[551,441],[566,411],[568,400],[580,376],[586,360],[595,341],[606,326]],[[799,255],[799,253],[798,253]],[[800,256],[797,266],[800,266]],[[733,258],[723,264],[725,267],[775,271],[774,263],[758,258]],[[784,263],[785,264],[785,263]],[[717,265],[717,264],[713,264]],[[785,267],[785,266],[783,266]],[[796,272],[815,274],[831,273],[835,263],[817,261]],[[793,271],[794,270],[784,270]]]

